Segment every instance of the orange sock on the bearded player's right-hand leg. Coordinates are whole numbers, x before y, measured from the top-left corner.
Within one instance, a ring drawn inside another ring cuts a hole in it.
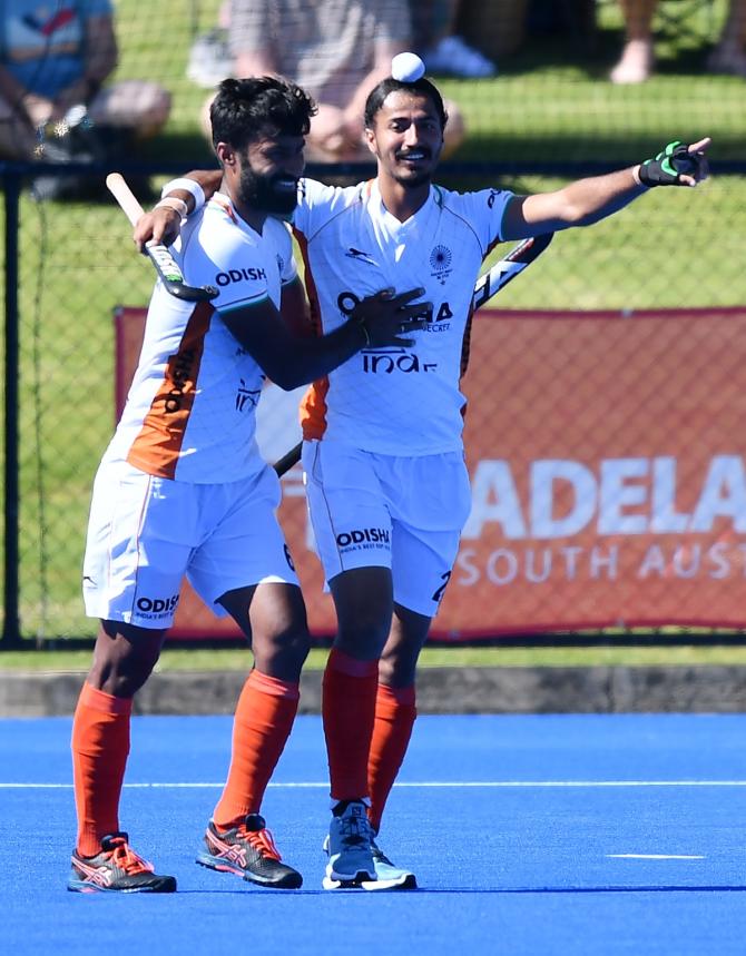
[[[253,670],[233,721],[228,779],[213,819],[227,830],[258,814],[269,778],[289,737],[301,697],[298,684]]]

